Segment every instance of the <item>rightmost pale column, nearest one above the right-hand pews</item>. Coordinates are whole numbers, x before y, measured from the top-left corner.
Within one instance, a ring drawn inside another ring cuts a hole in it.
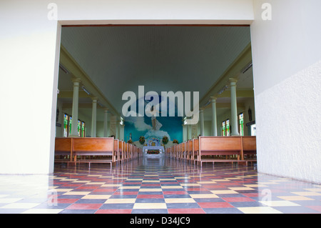
[[[236,101],[236,79],[230,79],[230,126],[232,127],[231,136],[240,135],[238,133],[238,105]]]

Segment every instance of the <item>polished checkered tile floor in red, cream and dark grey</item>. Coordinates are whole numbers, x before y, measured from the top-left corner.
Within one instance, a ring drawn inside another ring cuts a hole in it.
[[[66,167],[52,175],[0,175],[0,214],[321,213],[321,184],[231,164],[168,157]]]

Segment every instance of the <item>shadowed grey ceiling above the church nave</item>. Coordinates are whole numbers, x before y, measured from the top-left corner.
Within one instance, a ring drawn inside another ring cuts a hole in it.
[[[139,85],[158,94],[199,91],[201,99],[248,44],[249,26],[68,26],[61,32],[61,45],[118,114],[123,93],[138,94]],[[71,94],[58,96],[64,103],[72,102],[72,76],[59,71],[59,91]],[[237,86],[253,89],[252,69]],[[80,96],[79,103],[90,108],[91,99]]]

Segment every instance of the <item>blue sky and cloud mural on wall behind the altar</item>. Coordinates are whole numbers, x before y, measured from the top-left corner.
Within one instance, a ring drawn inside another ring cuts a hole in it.
[[[159,96],[159,104],[161,104],[161,101],[162,97]],[[145,98],[144,102],[148,106]],[[138,104],[138,100],[136,104]],[[158,110],[161,109],[159,104]],[[153,111],[153,106],[151,106],[151,110]],[[128,111],[131,110],[128,109]],[[168,137],[168,141],[177,139],[178,142],[182,142],[183,140],[182,117],[177,117],[177,109],[175,109],[174,117],[161,117],[160,110],[159,114],[153,114],[151,117],[145,114],[143,117],[136,115],[136,117],[124,117],[124,119],[124,139],[126,142],[130,139],[130,136],[133,142],[138,141],[143,136],[146,139],[146,143],[153,139],[153,142],[159,142],[159,144],[161,144],[164,136]]]

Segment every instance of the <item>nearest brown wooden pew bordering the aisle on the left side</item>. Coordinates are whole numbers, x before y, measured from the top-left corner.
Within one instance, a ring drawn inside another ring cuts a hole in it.
[[[114,151],[113,138],[73,138],[74,162],[81,163],[109,163],[116,162],[116,153]],[[108,156],[106,159],[80,159],[77,156]],[[109,158],[111,157],[111,158]]]

